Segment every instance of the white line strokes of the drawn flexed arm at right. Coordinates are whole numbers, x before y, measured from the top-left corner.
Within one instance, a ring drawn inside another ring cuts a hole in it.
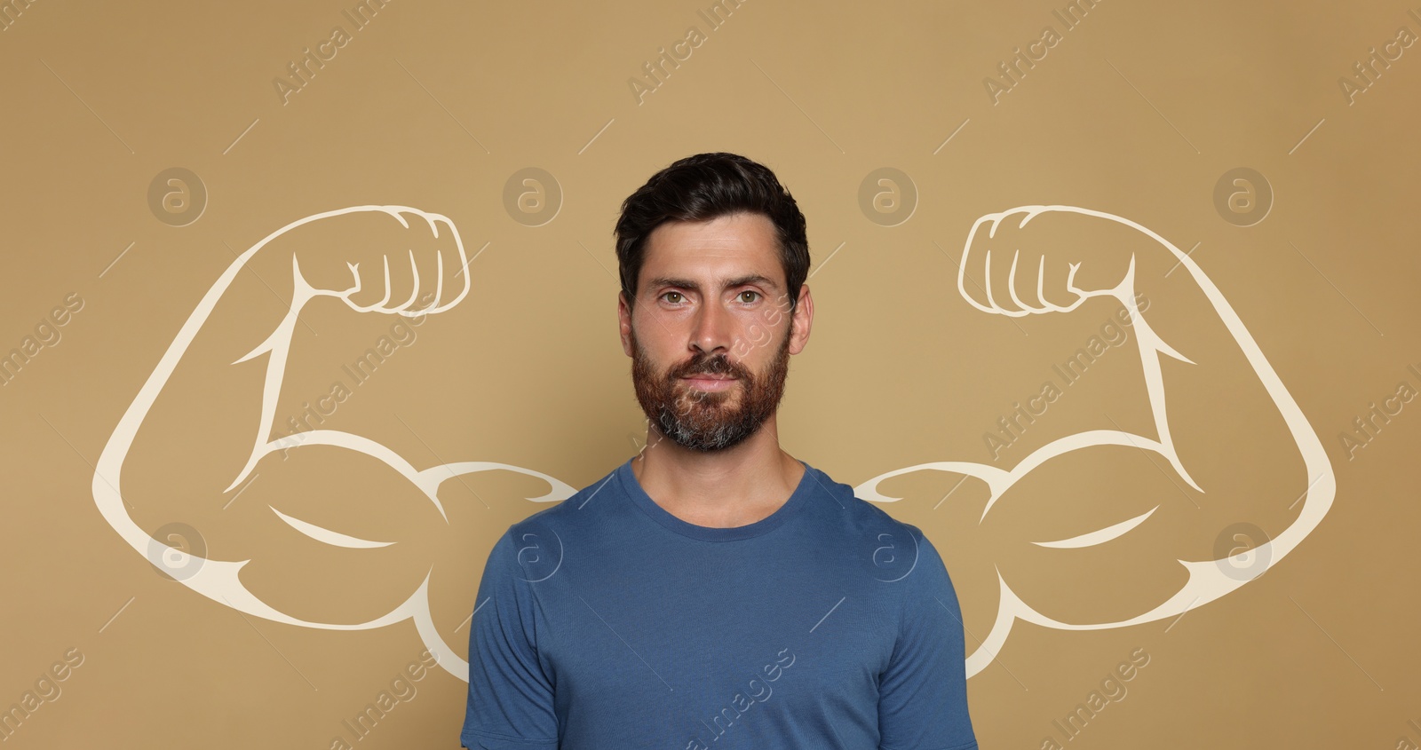
[[[1283,386],[1282,379],[1279,379],[1277,372],[1269,365],[1268,358],[1259,349],[1253,337],[1249,334],[1243,321],[1229,305],[1229,301],[1223,297],[1219,288],[1205,276],[1204,270],[1189,257],[1188,253],[1181,251],[1175,244],[1165,240],[1155,232],[1111,213],[1081,209],[1074,206],[1019,206],[999,213],[990,213],[978,219],[971,232],[968,233],[965,251],[962,261],[958,266],[958,293],[966,300],[972,307],[982,312],[995,315],[1009,315],[1009,317],[1023,317],[1033,314],[1049,314],[1070,311],[1083,304],[1090,297],[1114,297],[1134,318],[1134,327],[1137,330],[1137,342],[1140,348],[1141,365],[1144,371],[1145,391],[1148,393],[1150,408],[1154,416],[1154,426],[1158,439],[1145,438],[1142,435],[1130,433],[1125,430],[1086,430],[1074,435],[1067,435],[1057,440],[1049,442],[1047,445],[1036,449],[1026,457],[1023,457],[1010,470],[1005,470],[996,466],[982,464],[976,462],[963,460],[948,460],[948,462],[932,462],[919,463],[915,466],[908,466],[904,469],[897,469],[877,477],[872,477],[857,487],[854,493],[868,501],[875,503],[894,503],[901,500],[901,497],[884,496],[878,491],[878,486],[895,476],[909,474],[922,470],[936,470],[936,472],[951,472],[958,474],[966,474],[982,480],[990,496],[986,501],[986,507],[982,510],[979,523],[986,518],[988,513],[992,510],[993,504],[1002,499],[1002,496],[1022,477],[1027,476],[1032,470],[1044,464],[1049,460],[1059,459],[1071,452],[1093,447],[1093,446],[1124,446],[1135,447],[1141,450],[1148,450],[1160,455],[1168,462],[1171,467],[1178,473],[1185,483],[1194,487],[1196,491],[1204,491],[1199,484],[1189,476],[1188,469],[1179,460],[1175,450],[1174,439],[1169,432],[1169,420],[1165,412],[1165,382],[1161,375],[1161,359],[1168,357],[1178,359],[1181,362],[1192,364],[1191,359],[1171,348],[1160,335],[1150,327],[1148,315],[1145,315],[1137,305],[1135,297],[1135,259],[1131,256],[1128,263],[1128,270],[1124,277],[1113,288],[1106,290],[1083,290],[1076,286],[1076,271],[1080,264],[1071,264],[1069,274],[1066,277],[1066,291],[1074,295],[1074,301],[1070,304],[1053,304],[1047,301],[1047,290],[1043,288],[1043,281],[1046,278],[1043,256],[1040,260],[1040,267],[1037,271],[1036,284],[1036,300],[1022,300],[1016,293],[1016,274],[1017,274],[1017,260],[1020,251],[1017,250],[1010,260],[1010,267],[1006,270],[1007,287],[1010,290],[1012,305],[1006,305],[1005,301],[993,298],[992,294],[992,277],[993,277],[993,259],[989,249],[983,246],[989,244],[996,236],[999,227],[1013,227],[1020,229],[1027,226],[1033,219],[1049,216],[1052,213],[1073,213],[1080,216],[1091,216],[1106,222],[1117,222],[1127,227],[1131,227],[1141,233],[1144,237],[1154,240],[1160,246],[1161,251],[1171,253],[1178,264],[1189,271],[1194,281],[1198,284],[1199,290],[1212,304],[1214,311],[1219,315],[1228,332],[1232,335],[1233,341],[1242,351],[1248,365],[1256,374],[1259,382],[1263,385],[1268,398],[1272,399],[1282,416],[1289,435],[1296,443],[1297,450],[1302,455],[1303,466],[1307,472],[1307,490],[1303,493],[1304,497],[1302,509],[1297,511],[1297,517],[1280,533],[1277,533],[1272,540],[1249,550],[1239,551],[1231,557],[1222,560],[1179,560],[1178,562],[1184,565],[1188,571],[1188,580],[1181,585],[1181,588],[1174,592],[1172,597],[1154,607],[1147,612],[1141,612],[1135,616],[1127,619],[1117,619],[1110,622],[1061,622],[1050,616],[1043,615],[1025,601],[1017,597],[1012,588],[1007,585],[1006,578],[1002,577],[1000,570],[998,570],[998,584],[1000,587],[1000,604],[996,612],[996,619],[992,625],[990,634],[982,639],[980,645],[969,653],[966,659],[968,676],[973,676],[986,668],[1000,652],[1002,645],[1006,642],[1007,634],[1012,631],[1012,625],[1016,621],[1030,622],[1044,628],[1054,628],[1063,631],[1094,631],[1107,628],[1124,628],[1130,625],[1138,625],[1144,622],[1154,622],[1165,618],[1172,618],[1182,615],[1185,611],[1212,602],[1225,594],[1236,591],[1243,584],[1256,580],[1268,568],[1276,565],[1283,557],[1292,553],[1297,544],[1307,537],[1317,524],[1322,523],[1323,517],[1331,507],[1337,480],[1333,473],[1331,463],[1327,459],[1323,445],[1317,438],[1317,433],[1309,425],[1307,418],[1303,415],[1302,409],[1293,401],[1287,388]],[[985,237],[980,234],[985,233]],[[966,270],[969,263],[973,267],[982,267],[988,276],[988,283],[982,288],[969,290],[963,281],[966,280]],[[1005,261],[996,261],[995,274],[1002,273]],[[1027,268],[1026,273],[1032,273]],[[1056,291],[1057,298],[1060,298],[1060,290]],[[1296,501],[1295,501],[1296,506]],[[1155,509],[1148,513],[1135,516],[1125,521],[1120,521],[1097,531],[1079,534],[1076,537],[1054,540],[1054,541],[1037,541],[1039,547],[1054,547],[1054,548],[1081,548],[1104,544],[1110,540],[1130,534],[1137,527],[1147,524],[1150,516]],[[1225,570],[1225,564],[1243,567],[1249,570],[1248,575],[1229,575]]]

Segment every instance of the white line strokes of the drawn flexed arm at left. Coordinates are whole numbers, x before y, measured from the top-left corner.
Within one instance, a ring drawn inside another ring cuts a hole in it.
[[[281,393],[281,382],[286,375],[287,355],[290,352],[291,335],[296,331],[298,321],[298,314],[301,308],[311,300],[317,297],[335,297],[345,303],[351,310],[357,312],[375,312],[387,315],[404,315],[416,317],[426,314],[436,314],[449,310],[459,304],[469,293],[469,273],[468,263],[469,259],[463,249],[463,241],[459,237],[458,230],[453,223],[438,213],[426,213],[408,206],[351,206],[347,209],[338,209],[324,213],[317,213],[307,216],[304,219],[296,220],[267,237],[252,246],[249,250],[242,253],[226,271],[213,283],[207,293],[198,303],[198,307],[188,317],[188,321],[178,331],[176,338],[163,352],[158,365],[153,368],[152,375],[144,384],[142,389],[138,392],[134,402],[124,412],[114,433],[109,436],[104,452],[99,455],[97,469],[94,472],[94,501],[98,506],[99,513],[114,527],[115,531],[126,541],[136,553],[148,558],[149,562],[156,565],[161,571],[165,571],[169,577],[179,581],[185,587],[207,597],[216,602],[226,604],[237,611],[246,612],[249,615],[270,619],[273,622],[283,622],[287,625],[300,625],[306,628],[330,629],[330,631],[364,631],[374,628],[384,628],[387,625],[394,625],[412,619],[419,636],[423,643],[431,649],[432,653],[441,655],[439,665],[443,666],[453,676],[468,682],[469,679],[469,662],[458,658],[455,649],[445,643],[443,638],[435,628],[433,619],[429,609],[429,574],[425,574],[423,581],[412,591],[408,598],[401,602],[394,609],[387,614],[377,616],[365,622],[313,622],[301,619],[287,612],[283,612],[266,601],[259,598],[253,591],[250,591],[242,581],[240,572],[243,565],[250,562],[250,560],[198,560],[193,564],[193,558],[186,550],[179,550],[171,547],[163,540],[156,540],[149,536],[148,531],[141,528],[132,517],[129,517],[125,510],[125,497],[122,494],[122,470],[124,462],[129,455],[129,449],[134,446],[135,436],[139,428],[144,425],[145,418],[148,418],[155,401],[162,392],[163,386],[168,385],[178,368],[183,355],[188,352],[189,345],[198,337],[203,324],[207,322],[209,315],[217,305],[223,293],[233,284],[233,280],[243,270],[243,267],[257,256],[263,247],[267,247],[271,241],[279,237],[303,227],[306,224],[320,223],[320,222],[338,222],[342,216],[362,216],[362,217],[378,217],[388,216],[394,222],[408,232],[409,244],[418,246],[423,243],[428,250],[435,240],[442,240],[448,244],[450,240],[456,249],[458,261],[453,259],[445,259],[443,250],[435,250],[432,257],[433,263],[438,264],[438,274],[433,280],[425,278],[423,287],[433,287],[433,301],[428,305],[411,310],[411,305],[418,298],[421,290],[419,278],[419,264],[416,263],[415,249],[402,249],[395,254],[396,261],[404,260],[408,254],[408,261],[414,270],[414,290],[415,293],[409,295],[408,300],[391,300],[391,271],[389,271],[389,254],[384,256],[384,284],[385,297],[379,303],[360,305],[352,301],[352,295],[362,288],[365,288],[372,280],[378,283],[379,274],[362,273],[360,270],[360,263],[345,263],[351,273],[351,283],[344,288],[315,288],[301,273],[300,263],[293,254],[291,257],[291,273],[293,273],[293,300],[290,308],[283,318],[283,321],[276,327],[274,331],[256,348],[253,348],[246,355],[230,362],[230,365],[237,365],[246,362],[260,355],[267,357],[266,381],[261,393],[261,412],[260,412],[260,428],[257,430],[256,442],[252,452],[246,460],[242,470],[232,479],[232,483],[223,491],[230,491],[233,487],[242,484],[249,476],[252,476],[257,463],[274,452],[281,452],[284,449],[291,449],[297,446],[307,445],[324,445],[334,446],[344,450],[362,453],[365,456],[374,457],[384,464],[389,466],[398,472],[405,480],[418,487],[425,497],[433,503],[433,507],[448,523],[448,516],[445,514],[443,506],[436,497],[439,486],[459,474],[487,472],[493,469],[503,469],[509,472],[517,472],[522,474],[539,477],[549,483],[550,490],[547,494],[539,497],[529,497],[526,500],[533,503],[554,503],[571,497],[576,490],[540,472],[531,469],[523,469],[519,466],[512,466],[506,463],[493,462],[458,462],[431,466],[428,469],[416,469],[408,460],[396,455],[389,447],[362,438],[360,435],[352,435],[348,432],[333,430],[333,429],[313,429],[308,432],[301,432],[298,435],[287,435],[283,438],[271,439],[271,429],[276,416],[277,398]],[[429,259],[425,259],[429,260]],[[458,273],[446,274],[445,268],[448,266],[458,267]],[[446,276],[449,276],[446,278]],[[378,288],[378,287],[377,287]],[[456,293],[453,290],[458,290]],[[274,507],[271,509],[283,521],[286,521],[291,528],[296,528],[301,534],[330,545],[347,547],[347,548],[372,548],[384,547],[391,543],[377,541],[377,540],[362,540],[348,534],[341,534],[334,530],[323,528],[320,526],[303,521],[287,516]],[[432,568],[431,568],[432,571]],[[179,572],[182,572],[179,575]],[[450,656],[450,658],[443,658]]]

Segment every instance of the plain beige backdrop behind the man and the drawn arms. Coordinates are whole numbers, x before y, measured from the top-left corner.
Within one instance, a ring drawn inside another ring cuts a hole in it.
[[[0,388],[0,706],[50,690],[51,669],[65,678],[6,730],[10,746],[331,747],[354,740],[342,722],[425,648],[409,622],[340,632],[244,615],[168,580],[95,507],[105,442],[236,253],[347,206],[446,214],[479,253],[469,297],[425,320],[330,422],[416,466],[500,462],[583,487],[632,456],[645,429],[617,345],[618,205],[671,161],[722,149],[767,163],[809,217],[818,315],[793,361],[780,430],[789,452],[838,482],[935,460],[990,463],[983,433],[1110,318],[1093,301],[1013,321],[958,295],[973,220],[1030,203],[1110,212],[1192,249],[1327,450],[1334,504],[1265,577],[1172,622],[1017,624],[969,682],[982,747],[1421,743],[1421,402],[1363,447],[1341,439],[1400,384],[1421,388],[1408,369],[1421,369],[1421,47],[1393,44],[1400,57],[1366,91],[1349,97],[1339,82],[1360,88],[1353,65],[1403,27],[1421,33],[1421,10],[1103,0],[1066,28],[1053,13],[1061,1],[749,0],[710,28],[706,1],[395,0],[357,28],[344,14],[352,4],[0,6],[0,352],[28,349]],[[337,26],[348,41],[283,98],[274,80],[290,80],[287,65]],[[645,80],[642,64],[692,26],[705,40],[638,102],[628,80]],[[983,80],[1002,81],[999,62],[1047,26],[1060,40],[993,101]],[[149,200],[171,168],[206,189],[186,226],[165,223]],[[561,190],[541,226],[516,220],[504,200],[524,168],[547,170]],[[861,182],[881,168],[917,189],[897,226],[860,206]],[[1273,190],[1253,226],[1228,222],[1214,197],[1236,168]],[[338,259],[347,240],[360,237],[313,241]],[[1087,239],[1061,243],[1091,250]],[[263,273],[270,281],[247,280],[253,310],[280,297],[276,271]],[[993,570],[1061,618],[1127,618],[1178,587],[1174,560],[1209,560],[1231,524],[1275,534],[1296,516],[1289,503],[1307,486],[1296,450],[1259,405],[1256,379],[1228,369],[1216,318],[1189,307],[1198,300],[1181,273],[1140,288],[1175,315],[1187,354],[1222,362],[1212,386],[1169,393],[1181,435],[1212,446],[1192,460],[1214,491],[1189,507],[1160,464],[1120,450],[1043,476],[976,526],[971,489],[935,509],[952,477],[898,480],[904,500],[887,510],[944,551],[969,632],[995,616]],[[51,315],[67,297],[78,310]],[[250,335],[236,320],[233,341]],[[350,384],[341,365],[392,320],[333,304],[303,322],[279,422]],[[1131,357],[1107,354],[998,464],[1100,428],[1107,413],[1141,423]],[[506,472],[469,477],[441,491],[445,523],[388,473],[311,449],[263,464],[233,500],[213,477],[232,479],[220,455],[250,449],[250,429],[215,425],[252,420],[260,375],[246,366],[230,382],[165,391],[125,467],[134,520],[153,533],[182,524],[183,543],[215,560],[253,560],[243,572],[253,589],[297,616],[371,619],[432,571],[435,622],[465,656],[483,560],[509,523],[539,509],[523,499],[547,486]],[[1027,544],[1152,504],[1158,523],[1128,544],[1079,555]],[[267,506],[402,544],[314,550]],[[1137,649],[1150,661],[1128,695],[1066,743],[1056,722]],[[65,653],[78,666],[54,668]],[[357,744],[458,747],[466,685],[438,668],[422,676],[418,695]]]

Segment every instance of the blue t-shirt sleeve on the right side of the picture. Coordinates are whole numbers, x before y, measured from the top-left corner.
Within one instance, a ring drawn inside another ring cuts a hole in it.
[[[918,527],[898,642],[878,685],[881,750],[973,750],[962,611],[938,550]]]

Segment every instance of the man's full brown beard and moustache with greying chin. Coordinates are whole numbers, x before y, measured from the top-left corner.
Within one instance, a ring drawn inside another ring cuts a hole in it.
[[[637,401],[661,433],[681,447],[699,452],[735,447],[755,435],[779,409],[790,368],[793,331],[791,322],[774,358],[759,374],[729,361],[725,354],[706,352],[672,365],[666,372],[657,372],[632,331],[631,381],[637,389]],[[682,381],[692,375],[732,376],[736,381],[725,391],[701,391]]]

